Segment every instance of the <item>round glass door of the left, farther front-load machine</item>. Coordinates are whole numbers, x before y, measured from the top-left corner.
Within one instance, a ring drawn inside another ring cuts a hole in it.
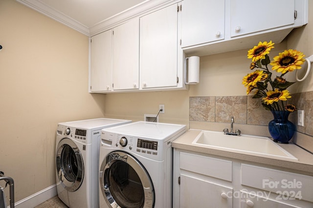
[[[64,138],[58,144],[56,168],[59,180],[66,190],[75,191],[83,183],[84,162],[82,154],[71,139]]]

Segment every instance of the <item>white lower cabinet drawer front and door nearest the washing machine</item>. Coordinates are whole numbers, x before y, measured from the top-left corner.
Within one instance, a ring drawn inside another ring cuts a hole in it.
[[[231,161],[186,152],[176,152],[175,154],[180,159],[179,172],[177,172],[177,177],[174,176],[174,181],[177,183],[174,183],[173,196],[178,197],[173,200],[174,207],[232,207]],[[178,178],[179,181],[175,178]]]

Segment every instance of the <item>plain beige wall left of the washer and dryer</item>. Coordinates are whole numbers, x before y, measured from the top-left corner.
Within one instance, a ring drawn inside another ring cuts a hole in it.
[[[57,123],[103,117],[105,96],[88,93],[88,37],[15,0],[0,0],[0,44],[0,170],[17,202],[55,184]]]

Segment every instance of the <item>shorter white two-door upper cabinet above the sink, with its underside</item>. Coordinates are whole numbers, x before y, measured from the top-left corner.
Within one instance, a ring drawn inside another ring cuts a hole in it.
[[[308,23],[308,0],[183,0],[181,13],[181,48],[205,56],[283,41]]]

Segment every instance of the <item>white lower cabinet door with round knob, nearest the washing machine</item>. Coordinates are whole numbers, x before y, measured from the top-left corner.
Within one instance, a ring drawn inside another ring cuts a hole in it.
[[[233,189],[180,174],[180,208],[231,208]]]

